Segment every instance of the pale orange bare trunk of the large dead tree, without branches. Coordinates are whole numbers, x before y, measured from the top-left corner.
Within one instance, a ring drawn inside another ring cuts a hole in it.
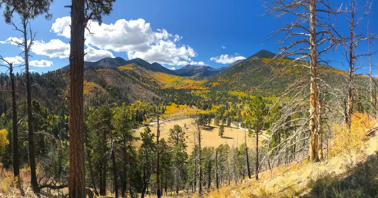
[[[311,161],[319,161],[318,156],[318,68],[316,66],[318,62],[317,52],[316,52],[316,7],[315,0],[309,0],[310,7],[310,144],[308,153],[310,155]]]

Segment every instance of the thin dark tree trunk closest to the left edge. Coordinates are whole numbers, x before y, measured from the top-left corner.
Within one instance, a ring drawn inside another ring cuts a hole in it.
[[[19,138],[17,130],[17,102],[16,102],[16,89],[13,74],[13,63],[9,64],[9,75],[11,75],[12,83],[12,125],[13,125],[13,174],[14,177],[20,176],[19,165]]]

